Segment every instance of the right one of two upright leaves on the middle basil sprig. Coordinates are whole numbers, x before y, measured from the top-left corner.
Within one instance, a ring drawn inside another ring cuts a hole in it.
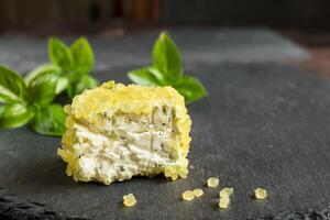
[[[94,52],[85,37],[79,37],[70,47],[76,72],[88,74],[94,67]]]

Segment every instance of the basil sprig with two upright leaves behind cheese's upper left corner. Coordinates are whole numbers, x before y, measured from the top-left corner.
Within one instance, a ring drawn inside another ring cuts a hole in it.
[[[66,90],[69,98],[99,85],[97,79],[89,76],[95,58],[87,38],[79,37],[68,47],[58,38],[50,37],[48,57],[51,64],[33,69],[28,75],[26,82],[40,74],[54,73],[58,76],[56,95]]]

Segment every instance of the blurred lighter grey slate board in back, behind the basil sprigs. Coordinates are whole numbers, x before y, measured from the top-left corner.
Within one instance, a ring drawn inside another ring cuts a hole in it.
[[[196,62],[301,62],[308,53],[295,43],[268,29],[168,29],[179,45],[186,64]],[[150,64],[151,50],[160,31],[123,36],[88,37],[96,52],[96,72],[114,67]],[[72,43],[76,37],[61,37]],[[26,73],[47,62],[47,42],[32,36],[4,35],[0,37],[0,62]]]

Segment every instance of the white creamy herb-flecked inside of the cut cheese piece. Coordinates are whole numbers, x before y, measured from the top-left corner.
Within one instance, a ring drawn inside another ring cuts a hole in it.
[[[172,112],[156,108],[153,116],[118,116],[98,128],[102,133],[76,123],[77,143],[73,146],[80,167],[80,175],[107,182],[124,180],[152,168],[177,164],[173,161]],[[180,152],[176,152],[180,155]]]

